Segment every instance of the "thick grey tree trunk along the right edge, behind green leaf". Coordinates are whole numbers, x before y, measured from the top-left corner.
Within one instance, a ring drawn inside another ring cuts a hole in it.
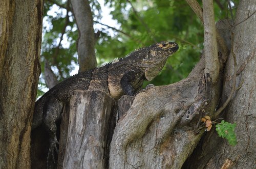
[[[216,131],[204,135],[195,152],[190,156],[185,168],[255,168],[255,130],[256,130],[256,67],[255,67],[255,1],[240,1],[235,26],[232,27],[232,48],[237,58],[237,86],[242,87],[228,104],[224,119],[237,123],[238,144],[234,147],[218,137]],[[253,14],[251,17],[249,17]],[[249,17],[249,18],[248,18]],[[248,19],[247,19],[248,18]],[[246,20],[245,20],[246,19]],[[232,52],[231,52],[232,54]],[[230,94],[234,64],[231,55],[228,58],[222,92],[222,103]],[[200,161],[200,162],[195,162]]]

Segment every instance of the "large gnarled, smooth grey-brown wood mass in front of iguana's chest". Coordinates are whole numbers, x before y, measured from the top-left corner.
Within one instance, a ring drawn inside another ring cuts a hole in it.
[[[213,84],[214,98],[206,100],[204,59],[194,70],[182,81],[135,97],[115,128],[110,168],[182,166],[202,135],[196,127],[200,116],[213,112],[220,96],[219,83]]]

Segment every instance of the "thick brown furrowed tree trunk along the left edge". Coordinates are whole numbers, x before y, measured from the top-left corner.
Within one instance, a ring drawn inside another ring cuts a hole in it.
[[[42,2],[0,2],[0,168],[30,168]]]

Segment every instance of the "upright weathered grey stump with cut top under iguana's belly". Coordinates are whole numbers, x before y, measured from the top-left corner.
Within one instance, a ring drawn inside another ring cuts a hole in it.
[[[108,168],[116,117],[133,99],[123,96],[115,102],[100,91],[76,91],[61,123],[58,168]]]

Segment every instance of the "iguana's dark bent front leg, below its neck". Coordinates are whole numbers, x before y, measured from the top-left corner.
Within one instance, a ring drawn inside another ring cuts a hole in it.
[[[120,86],[126,95],[134,96],[136,91],[142,87],[144,80],[145,80],[145,76],[142,71],[132,70],[125,73],[122,76],[120,80]]]

